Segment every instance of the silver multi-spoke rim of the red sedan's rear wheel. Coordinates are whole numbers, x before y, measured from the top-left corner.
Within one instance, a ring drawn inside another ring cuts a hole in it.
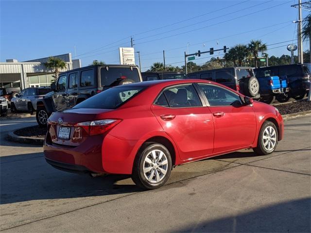
[[[161,150],[152,150],[143,162],[143,174],[148,182],[156,184],[165,177],[168,171],[168,159]]]

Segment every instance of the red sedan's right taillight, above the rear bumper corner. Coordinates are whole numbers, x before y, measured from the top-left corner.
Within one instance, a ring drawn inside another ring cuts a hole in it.
[[[88,135],[92,136],[105,133],[120,122],[120,119],[104,119],[77,123],[76,126],[81,127]]]

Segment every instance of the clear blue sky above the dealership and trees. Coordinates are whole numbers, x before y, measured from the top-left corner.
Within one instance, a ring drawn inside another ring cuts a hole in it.
[[[118,48],[130,47],[131,36],[143,71],[163,62],[163,50],[167,65],[181,67],[185,51],[222,49],[251,39],[266,43],[269,56],[290,55],[286,46],[296,43],[292,21],[298,17],[291,5],[297,1],[0,0],[0,62],[70,52],[82,66],[93,60],[119,64]],[[303,17],[307,14],[303,10]],[[194,62],[202,65],[210,58],[202,54]]]

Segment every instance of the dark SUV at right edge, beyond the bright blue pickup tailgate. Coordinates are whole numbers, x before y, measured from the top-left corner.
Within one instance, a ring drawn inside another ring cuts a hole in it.
[[[265,76],[265,73],[270,73],[270,76],[286,76],[289,94],[284,94],[284,101],[289,98],[301,100],[310,91],[311,64],[293,64],[273,67],[262,67],[254,69],[257,77]]]

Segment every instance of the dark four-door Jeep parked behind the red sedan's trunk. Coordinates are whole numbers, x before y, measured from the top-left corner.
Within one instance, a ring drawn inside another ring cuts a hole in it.
[[[141,82],[137,66],[103,65],[72,69],[59,74],[52,92],[37,101],[36,120],[47,124],[52,112],[63,111],[110,87]]]

